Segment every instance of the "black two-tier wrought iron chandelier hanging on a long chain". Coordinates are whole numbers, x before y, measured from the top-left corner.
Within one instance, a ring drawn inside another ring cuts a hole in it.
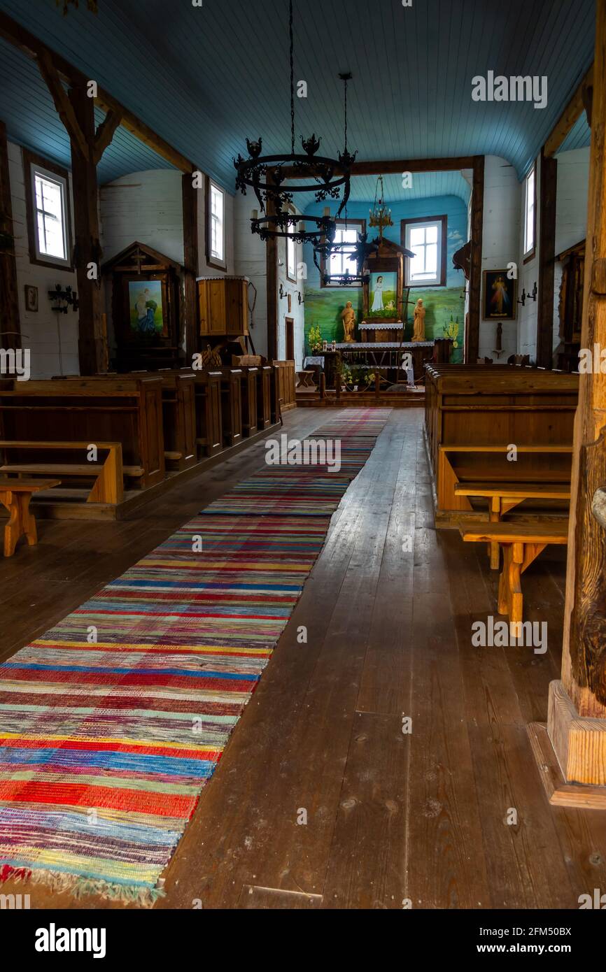
[[[263,139],[256,142],[246,139],[248,158],[238,155],[233,159],[236,171],[235,189],[246,194],[247,187],[252,189],[259,201],[263,216],[256,213],[251,219],[251,231],[267,240],[278,236],[292,236],[297,243],[311,243],[314,247],[322,239],[334,240],[336,223],[330,216],[300,216],[289,212],[297,192],[313,192],[316,202],[339,199],[339,217],[349,198],[351,166],[357,153],[347,151],[345,145],[338,158],[318,156],[320,139],[315,132],[308,138],[301,138],[303,154],[295,152],[295,66],[293,0],[289,0],[289,38],[290,38],[290,87],[291,87],[291,152],[290,155],[263,156]],[[350,77],[350,76],[349,76]],[[346,99],[346,82],[345,82]],[[345,100],[346,104],[346,100]],[[346,119],[346,116],[345,116]],[[307,229],[305,224],[312,224]],[[299,224],[299,226],[297,226]],[[291,227],[297,227],[291,231]]]

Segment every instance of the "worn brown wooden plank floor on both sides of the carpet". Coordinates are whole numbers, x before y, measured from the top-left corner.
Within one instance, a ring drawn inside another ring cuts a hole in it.
[[[334,414],[291,411],[285,427],[309,434]],[[473,621],[498,617],[498,575],[481,544],[434,529],[422,418],[392,412],[340,504],[157,908],[566,909],[606,885],[606,814],[550,807],[525,732],[546,719],[559,673],[565,550],[548,548],[524,574],[547,653],[474,647]],[[0,561],[0,658],[259,468],[264,451],[131,520],[43,523],[39,547]],[[113,906],[27,889],[32,907]]]

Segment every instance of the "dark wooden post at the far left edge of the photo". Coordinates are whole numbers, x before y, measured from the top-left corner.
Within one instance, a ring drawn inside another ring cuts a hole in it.
[[[9,180],[9,156],[7,148],[6,125],[0,121],[0,295],[2,307],[0,318],[0,348],[20,347],[20,326],[18,317],[17,263],[15,260],[15,235],[13,226],[13,203]]]

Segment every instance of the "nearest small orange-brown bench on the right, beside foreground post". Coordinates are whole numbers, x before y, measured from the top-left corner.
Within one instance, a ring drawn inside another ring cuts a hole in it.
[[[520,576],[548,543],[568,542],[568,521],[536,525],[487,523],[461,527],[461,537],[471,543],[498,543],[503,548],[503,570],[499,577],[499,614],[509,614],[510,621],[522,620]]]

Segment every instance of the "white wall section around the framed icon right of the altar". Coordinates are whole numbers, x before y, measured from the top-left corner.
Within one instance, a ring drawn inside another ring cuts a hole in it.
[[[510,262],[518,262],[520,185],[516,170],[505,158],[485,156],[484,207],[481,244],[483,314],[483,271],[504,270]],[[521,309],[517,305],[517,310]],[[497,325],[494,321],[480,321],[480,357],[506,362],[517,350],[516,321],[503,321],[503,354],[494,354]]]

